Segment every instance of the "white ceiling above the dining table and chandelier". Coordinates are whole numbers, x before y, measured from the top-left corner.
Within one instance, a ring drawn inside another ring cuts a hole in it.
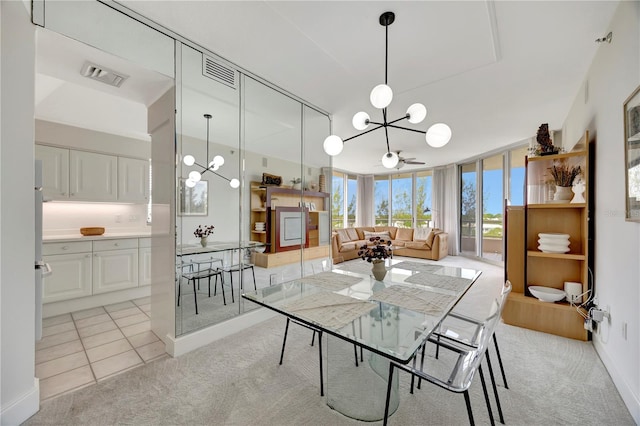
[[[451,142],[390,129],[391,150],[426,166],[459,162],[560,129],[617,7],[615,1],[130,1],[141,13],[231,63],[333,115],[334,133],[357,134],[354,113],[381,113],[369,92],[384,81],[381,13],[389,27],[389,118],[421,102],[426,130],[445,122]],[[615,43],[615,34],[613,36]],[[139,99],[147,103],[148,100]],[[404,123],[399,123],[404,124]],[[380,173],[382,130],[349,141],[334,167]]]

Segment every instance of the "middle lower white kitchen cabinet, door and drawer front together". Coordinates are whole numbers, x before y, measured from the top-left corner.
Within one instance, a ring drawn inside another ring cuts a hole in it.
[[[93,294],[138,286],[138,239],[93,242]]]

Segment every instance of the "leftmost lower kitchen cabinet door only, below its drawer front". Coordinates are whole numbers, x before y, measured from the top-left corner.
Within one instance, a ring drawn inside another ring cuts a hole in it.
[[[91,296],[91,253],[43,256],[51,274],[42,279],[42,303]]]

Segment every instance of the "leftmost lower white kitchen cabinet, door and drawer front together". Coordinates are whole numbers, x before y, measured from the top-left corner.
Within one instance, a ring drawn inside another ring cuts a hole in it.
[[[43,303],[91,295],[90,241],[44,244],[42,259],[51,266],[42,280]]]

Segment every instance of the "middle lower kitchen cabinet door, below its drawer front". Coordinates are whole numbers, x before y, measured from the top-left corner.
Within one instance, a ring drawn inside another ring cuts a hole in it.
[[[93,294],[137,286],[137,248],[93,253]]]

